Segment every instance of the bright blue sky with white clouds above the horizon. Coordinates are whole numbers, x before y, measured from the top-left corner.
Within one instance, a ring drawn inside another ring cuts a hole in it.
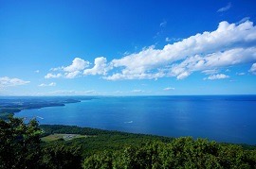
[[[256,94],[255,7],[0,0],[0,95]]]

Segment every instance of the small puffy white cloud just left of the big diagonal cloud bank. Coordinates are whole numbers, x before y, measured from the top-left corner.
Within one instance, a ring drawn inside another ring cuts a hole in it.
[[[108,71],[108,67],[107,67],[107,59],[101,57],[101,58],[97,58],[94,60],[94,67],[91,69],[85,69],[83,71],[83,75],[87,76],[87,75],[106,75],[106,72]]]

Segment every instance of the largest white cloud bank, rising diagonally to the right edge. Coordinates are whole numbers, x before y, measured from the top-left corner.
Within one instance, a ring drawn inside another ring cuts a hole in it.
[[[138,53],[113,59],[113,75],[104,79],[153,79],[176,76],[182,79],[193,72],[249,63],[256,60],[256,27],[252,22],[240,25],[221,22],[211,32],[196,34],[180,42],[167,44],[163,49],[155,46]]]

